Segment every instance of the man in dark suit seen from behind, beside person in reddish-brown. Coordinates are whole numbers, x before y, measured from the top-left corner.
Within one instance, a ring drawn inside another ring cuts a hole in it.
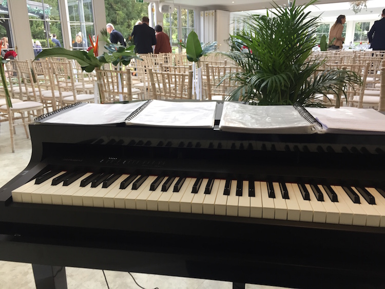
[[[155,30],[149,27],[149,19],[147,16],[142,18],[142,24],[133,27],[131,36],[135,44],[135,52],[152,53],[152,45],[157,44]]]

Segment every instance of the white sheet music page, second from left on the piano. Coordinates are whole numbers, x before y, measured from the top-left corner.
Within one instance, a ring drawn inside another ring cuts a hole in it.
[[[152,100],[127,125],[213,128],[214,101]]]

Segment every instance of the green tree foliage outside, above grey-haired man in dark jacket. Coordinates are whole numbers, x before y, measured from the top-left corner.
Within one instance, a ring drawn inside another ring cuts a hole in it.
[[[112,23],[125,39],[131,36],[135,23],[142,20],[143,16],[148,16],[148,3],[136,3],[133,0],[105,0],[105,6],[107,23]]]

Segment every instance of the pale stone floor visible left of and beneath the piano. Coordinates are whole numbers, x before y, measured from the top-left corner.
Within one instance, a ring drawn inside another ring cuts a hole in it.
[[[14,138],[15,152],[10,147],[9,126],[0,123],[0,187],[21,172],[31,157],[31,141],[27,139],[22,126],[16,128]],[[110,289],[139,288],[127,272],[105,271]],[[149,274],[132,274],[144,288],[150,289],[230,289],[230,282],[169,277]],[[104,289],[107,288],[103,272],[97,269],[66,267],[68,289]],[[31,264],[0,261],[0,289],[34,289],[35,283]],[[246,284],[246,288],[277,288]]]

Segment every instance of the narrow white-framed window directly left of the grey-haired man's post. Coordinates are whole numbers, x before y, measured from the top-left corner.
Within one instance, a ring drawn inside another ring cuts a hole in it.
[[[72,49],[86,50],[89,36],[95,35],[91,0],[68,0],[68,17]]]

